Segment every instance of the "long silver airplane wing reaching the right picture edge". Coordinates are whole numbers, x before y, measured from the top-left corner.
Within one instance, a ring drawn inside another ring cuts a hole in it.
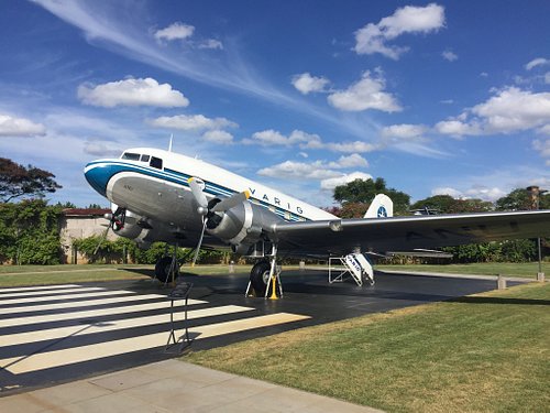
[[[550,236],[550,210],[278,222],[279,249],[346,254]]]

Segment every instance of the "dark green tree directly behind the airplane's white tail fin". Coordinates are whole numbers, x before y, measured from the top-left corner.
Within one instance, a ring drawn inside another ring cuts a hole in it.
[[[385,194],[394,202],[394,213],[403,215],[408,213],[410,196],[386,186],[386,181],[382,177],[373,180],[355,180],[345,185],[339,185],[334,188],[334,199],[338,200],[342,208],[346,204],[363,204],[364,211],[377,194]],[[355,210],[358,208],[350,208]],[[364,214],[363,211],[363,214]]]

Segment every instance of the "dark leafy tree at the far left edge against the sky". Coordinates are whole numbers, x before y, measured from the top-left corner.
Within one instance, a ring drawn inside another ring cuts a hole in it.
[[[20,196],[44,196],[62,186],[54,181],[51,172],[29,165],[20,165],[7,157],[0,157],[0,197],[8,203]]]

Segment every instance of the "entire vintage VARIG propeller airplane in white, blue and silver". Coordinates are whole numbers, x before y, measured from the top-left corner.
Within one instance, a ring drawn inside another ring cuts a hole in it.
[[[202,246],[230,247],[257,259],[249,287],[265,296],[271,281],[272,290],[279,282],[282,254],[343,256],[372,276],[365,254],[550,236],[550,210],[393,217],[385,195],[365,218],[341,219],[216,165],[152,148],[90,162],[85,176],[111,202],[117,235],[142,248],[154,241],[195,247],[195,260]],[[156,276],[165,281],[174,265],[175,257],[161,259]]]

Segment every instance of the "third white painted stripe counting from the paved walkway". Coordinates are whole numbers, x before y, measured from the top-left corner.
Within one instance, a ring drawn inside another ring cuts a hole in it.
[[[206,302],[200,300],[189,300],[188,305],[204,304]],[[112,307],[112,308],[101,308],[101,309],[84,309],[70,313],[61,314],[47,314],[47,315],[36,315],[29,317],[16,317],[16,318],[6,318],[0,319],[0,327],[12,327],[12,326],[23,326],[37,323],[52,323],[61,320],[73,320],[79,318],[97,318],[105,315],[118,315],[128,314],[133,312],[144,312],[150,309],[167,308],[169,307],[168,300],[150,303],[150,304],[138,304],[138,305],[127,305],[124,307]]]

